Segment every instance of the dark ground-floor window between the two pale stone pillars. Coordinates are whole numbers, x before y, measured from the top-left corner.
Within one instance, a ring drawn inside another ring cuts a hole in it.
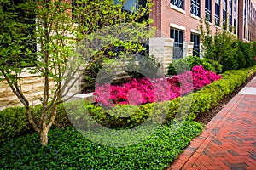
[[[184,31],[171,28],[170,37],[174,39],[173,59],[183,58]]]

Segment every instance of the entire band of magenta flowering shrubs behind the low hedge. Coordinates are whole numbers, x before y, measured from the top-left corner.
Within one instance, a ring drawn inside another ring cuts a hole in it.
[[[130,79],[122,86],[110,85],[108,83],[99,86],[96,84],[96,102],[113,107],[116,104],[141,105],[152,102],[176,99],[179,96],[189,94],[194,90],[220,79],[212,71],[207,71],[201,65],[195,65],[192,71],[185,71],[181,75],[172,78],[147,77],[137,80]]]

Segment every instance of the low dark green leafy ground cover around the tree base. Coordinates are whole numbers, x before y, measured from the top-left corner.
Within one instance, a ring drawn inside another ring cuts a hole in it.
[[[143,143],[122,148],[92,143],[73,127],[49,131],[46,147],[41,146],[37,133],[27,134],[1,144],[0,168],[163,169],[202,130],[198,122],[183,122],[173,131],[176,126],[169,123]]]

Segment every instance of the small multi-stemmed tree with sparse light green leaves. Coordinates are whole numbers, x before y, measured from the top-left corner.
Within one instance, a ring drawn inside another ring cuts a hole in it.
[[[136,23],[150,12],[152,6],[148,1],[143,8],[131,8],[130,12],[122,8],[125,1],[114,5],[113,0],[80,0],[73,3],[61,0],[24,0],[20,3],[0,0],[0,3],[0,76],[4,77],[26,108],[28,120],[40,134],[42,145],[48,144],[48,132],[55,121],[57,105],[63,102],[63,95],[70,89],[67,85],[79,71],[81,63],[86,65],[84,70],[90,69],[99,59],[106,58],[104,54],[111,47],[105,45],[104,50],[86,48],[83,53],[90,55],[90,59],[82,59],[80,51],[73,52],[75,44],[84,38],[91,41],[100,39],[105,44],[121,44],[126,51],[132,51],[134,47],[131,47],[131,41],[119,41],[119,36],[122,35],[115,33],[113,35],[116,37],[104,37],[104,33],[108,33],[104,31],[110,31],[109,29],[98,32],[98,35],[92,33],[104,26]],[[144,20],[140,26],[146,26],[149,22],[150,20]],[[113,26],[113,31],[119,29],[114,29]],[[129,30],[127,27],[123,27],[121,32],[125,32],[125,36],[133,33],[137,37],[145,37],[148,33]],[[34,48],[35,44],[39,48]],[[80,45],[88,44],[84,42]],[[110,52],[112,56],[116,55]],[[43,106],[38,121],[32,115],[29,100],[22,91],[22,83],[19,83],[19,75],[25,68],[32,74],[40,73],[40,77],[44,79],[41,99]],[[53,89],[49,86],[51,82],[55,83]]]

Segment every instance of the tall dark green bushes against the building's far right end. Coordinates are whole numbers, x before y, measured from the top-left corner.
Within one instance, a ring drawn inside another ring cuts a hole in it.
[[[212,35],[208,22],[207,31],[202,23],[200,27],[204,58],[218,61],[223,65],[223,71],[248,68],[256,64],[253,60],[253,44],[238,40],[231,31],[226,31],[227,26],[222,31],[216,31],[215,35]]]

